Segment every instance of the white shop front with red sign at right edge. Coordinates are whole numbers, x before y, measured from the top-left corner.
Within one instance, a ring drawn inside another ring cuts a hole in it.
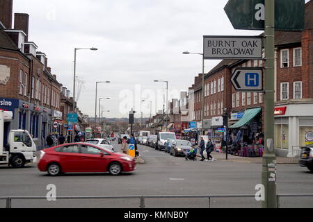
[[[313,144],[313,103],[275,106],[276,155],[294,157],[301,146]]]

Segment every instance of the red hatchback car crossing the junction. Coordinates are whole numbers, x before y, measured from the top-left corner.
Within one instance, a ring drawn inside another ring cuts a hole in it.
[[[50,176],[72,172],[108,172],[119,175],[134,171],[134,157],[115,153],[93,144],[74,143],[54,146],[40,151],[38,169]]]

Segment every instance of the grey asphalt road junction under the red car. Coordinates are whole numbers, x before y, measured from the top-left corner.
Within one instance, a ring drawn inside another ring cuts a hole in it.
[[[119,150],[118,144],[114,144]],[[186,161],[147,146],[138,146],[145,164],[122,176],[72,173],[49,177],[35,164],[24,169],[0,167],[0,196],[46,196],[56,185],[57,196],[255,194],[262,164]],[[298,164],[278,164],[278,194],[313,194],[313,173]],[[203,199],[147,199],[145,207],[208,207]],[[139,200],[13,200],[13,207],[138,207]],[[5,201],[0,200],[0,207]],[[212,199],[211,207],[261,207],[254,198]],[[281,207],[313,207],[313,198],[282,198]]]

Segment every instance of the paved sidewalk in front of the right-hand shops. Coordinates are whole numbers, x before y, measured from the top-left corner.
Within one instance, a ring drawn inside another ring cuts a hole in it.
[[[207,157],[207,153],[204,151],[204,157]],[[197,153],[198,157],[201,157],[200,152]],[[227,155],[226,153],[211,153],[212,157],[215,157],[217,161],[228,161],[228,162],[241,162],[241,163],[255,163],[262,164],[262,157],[241,157],[236,155]],[[298,164],[298,159],[293,157],[276,157],[278,164]]]

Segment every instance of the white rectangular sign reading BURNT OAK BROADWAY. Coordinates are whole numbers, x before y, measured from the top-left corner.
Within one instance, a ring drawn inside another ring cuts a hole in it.
[[[203,36],[204,59],[260,59],[262,36]]]

